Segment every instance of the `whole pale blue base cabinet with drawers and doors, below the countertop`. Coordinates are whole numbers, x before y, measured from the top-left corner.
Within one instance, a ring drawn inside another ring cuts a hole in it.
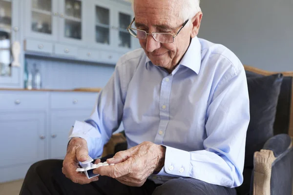
[[[62,159],[70,128],[90,116],[97,95],[0,91],[0,183],[24,178],[39,160]]]

